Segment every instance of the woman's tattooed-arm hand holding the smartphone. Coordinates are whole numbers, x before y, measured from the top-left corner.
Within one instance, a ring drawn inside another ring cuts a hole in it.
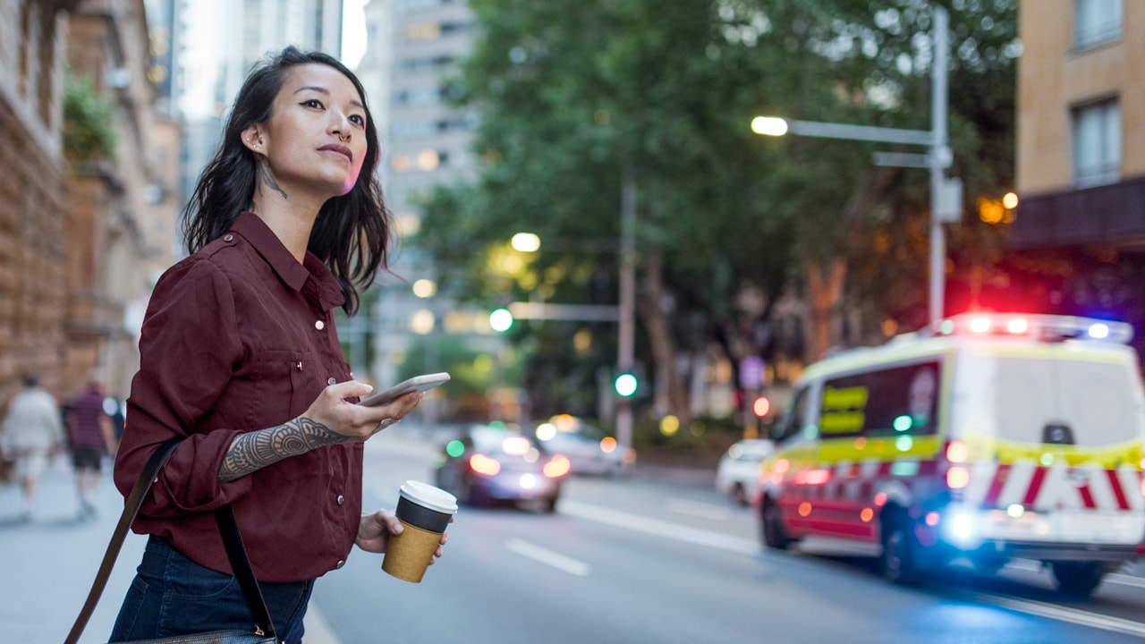
[[[361,442],[401,421],[425,396],[421,392],[410,392],[388,405],[377,407],[347,401],[349,398],[364,396],[371,391],[373,388],[370,385],[357,380],[330,385],[310,403],[302,418],[340,434],[348,442]]]

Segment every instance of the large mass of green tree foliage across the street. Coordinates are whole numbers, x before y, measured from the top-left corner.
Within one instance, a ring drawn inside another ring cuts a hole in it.
[[[663,254],[672,330],[686,350],[767,322],[769,309],[755,317],[740,293],[756,290],[772,304],[807,262],[836,257],[850,260],[850,301],[870,319],[925,315],[927,174],[892,171],[871,207],[848,215],[871,183],[870,154],[895,147],[763,138],[748,124],[768,113],[929,129],[930,3],[469,3],[482,36],[451,87],[481,117],[479,176],[431,195],[412,239],[433,252],[452,282],[445,289],[498,305],[615,304],[616,257],[594,251],[619,237],[627,168],[638,187],[637,252]],[[963,178],[969,209],[973,195],[1012,181],[1017,8],[949,6],[950,174]],[[542,252],[516,273],[493,269],[521,230],[542,238]],[[997,246],[996,237],[951,236],[956,265],[963,254],[989,261],[979,249]],[[592,391],[595,371],[615,361],[608,340],[577,353],[571,338],[583,327],[514,330],[536,339],[528,382],[551,391],[535,395],[572,395],[552,393],[561,383]],[[641,341],[638,333],[654,374]]]

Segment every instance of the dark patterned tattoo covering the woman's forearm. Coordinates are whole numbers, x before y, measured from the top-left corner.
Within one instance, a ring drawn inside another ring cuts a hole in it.
[[[219,466],[219,481],[230,482],[283,458],[349,441],[322,423],[302,417],[277,427],[239,435]]]

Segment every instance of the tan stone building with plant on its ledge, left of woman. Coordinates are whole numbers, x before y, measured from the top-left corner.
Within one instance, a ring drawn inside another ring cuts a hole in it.
[[[155,110],[143,0],[84,0],[70,16],[73,79],[89,79],[114,109],[113,158],[72,159],[69,181],[68,307],[64,387],[77,391],[93,371],[109,393],[127,395],[139,369],[137,322],[127,313],[147,301],[171,264],[164,238],[179,210],[174,121]]]

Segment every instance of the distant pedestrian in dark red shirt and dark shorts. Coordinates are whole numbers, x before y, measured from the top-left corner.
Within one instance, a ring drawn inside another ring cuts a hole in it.
[[[68,402],[68,438],[76,469],[76,495],[79,516],[94,517],[92,496],[100,487],[103,457],[116,455],[116,434],[111,417],[103,408],[106,398],[103,378],[93,375],[79,395]]]

